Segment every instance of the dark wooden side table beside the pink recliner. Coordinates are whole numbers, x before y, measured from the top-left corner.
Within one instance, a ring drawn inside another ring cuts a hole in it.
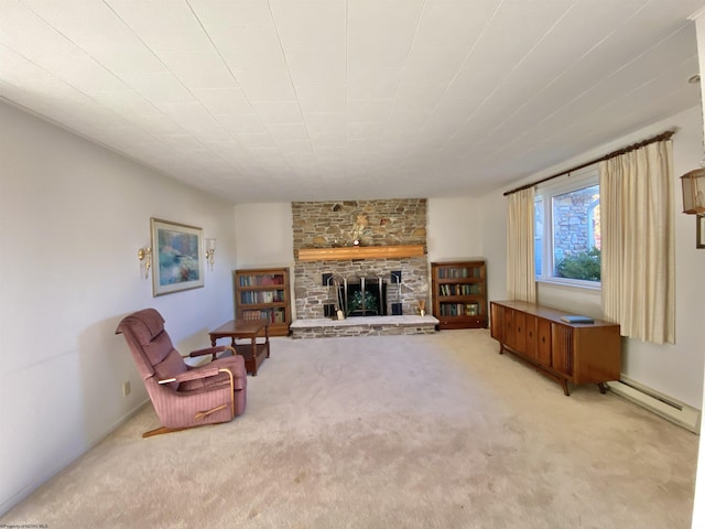
[[[257,368],[269,358],[268,327],[267,320],[231,320],[208,333],[210,345],[215,347],[218,338],[230,338],[236,353],[245,358],[247,373],[257,377]]]

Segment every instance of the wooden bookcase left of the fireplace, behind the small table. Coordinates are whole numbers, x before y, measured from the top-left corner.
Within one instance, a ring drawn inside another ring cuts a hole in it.
[[[270,336],[289,335],[291,303],[288,268],[235,271],[235,317],[267,320]]]

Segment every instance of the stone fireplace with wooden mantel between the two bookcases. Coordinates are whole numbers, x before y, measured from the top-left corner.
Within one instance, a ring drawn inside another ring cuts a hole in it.
[[[430,306],[425,198],[295,202],[292,214],[296,319],[334,319],[337,310],[346,319],[416,315],[421,300]],[[420,251],[394,255],[408,247]],[[322,257],[303,258],[312,249]]]

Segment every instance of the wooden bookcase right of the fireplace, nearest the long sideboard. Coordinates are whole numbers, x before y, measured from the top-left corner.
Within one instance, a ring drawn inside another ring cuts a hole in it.
[[[433,315],[438,328],[486,328],[487,273],[484,260],[431,263]]]

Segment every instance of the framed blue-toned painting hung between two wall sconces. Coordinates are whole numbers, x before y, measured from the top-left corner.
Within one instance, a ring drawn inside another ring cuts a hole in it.
[[[204,285],[203,229],[151,218],[152,295],[164,295]]]

